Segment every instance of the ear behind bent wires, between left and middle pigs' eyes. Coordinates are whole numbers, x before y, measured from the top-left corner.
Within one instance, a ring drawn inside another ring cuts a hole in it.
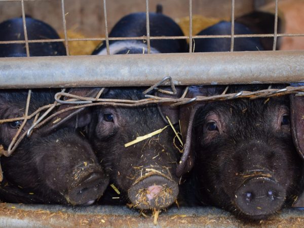
[[[83,96],[83,97],[96,97],[101,88],[72,88],[69,94]],[[64,97],[63,100],[69,99]],[[77,104],[62,104],[57,111],[63,110],[68,107],[75,106]],[[90,109],[87,107],[73,109],[60,113],[54,118],[44,129],[44,133],[50,133],[61,127],[85,127],[91,122],[92,116]],[[56,121],[60,120],[60,121]]]

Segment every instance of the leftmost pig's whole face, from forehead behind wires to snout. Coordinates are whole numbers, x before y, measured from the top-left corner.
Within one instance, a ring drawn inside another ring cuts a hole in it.
[[[2,91],[0,118],[22,116],[26,96],[27,92]],[[48,98],[53,96],[45,91],[33,91],[33,105],[29,111],[43,103],[50,103]],[[5,149],[20,124],[0,125],[0,143]],[[6,179],[2,184],[1,198],[12,203],[92,204],[103,194],[108,183],[108,177],[98,164],[90,144],[71,128],[48,136],[35,131],[30,138],[23,139],[10,157],[3,157],[1,165]]]

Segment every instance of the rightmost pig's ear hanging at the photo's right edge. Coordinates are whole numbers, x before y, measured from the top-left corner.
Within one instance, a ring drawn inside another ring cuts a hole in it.
[[[304,159],[304,97],[290,95],[291,134],[294,145]]]

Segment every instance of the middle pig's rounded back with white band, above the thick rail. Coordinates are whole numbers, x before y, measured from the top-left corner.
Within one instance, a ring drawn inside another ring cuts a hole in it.
[[[161,10],[158,10],[161,11]],[[162,13],[149,13],[149,26],[151,36],[183,36],[178,24]],[[146,35],[146,14],[129,14],[112,28],[109,37],[137,37]],[[125,40],[109,41],[110,54],[141,54],[147,53],[145,41]],[[179,40],[151,40],[151,53],[177,53],[186,51],[186,41]],[[105,42],[95,49],[93,55],[105,55]]]

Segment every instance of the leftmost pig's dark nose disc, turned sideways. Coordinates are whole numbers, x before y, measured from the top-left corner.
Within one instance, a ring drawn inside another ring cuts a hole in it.
[[[65,198],[72,205],[89,206],[102,196],[108,182],[102,172],[93,172],[72,187]]]

